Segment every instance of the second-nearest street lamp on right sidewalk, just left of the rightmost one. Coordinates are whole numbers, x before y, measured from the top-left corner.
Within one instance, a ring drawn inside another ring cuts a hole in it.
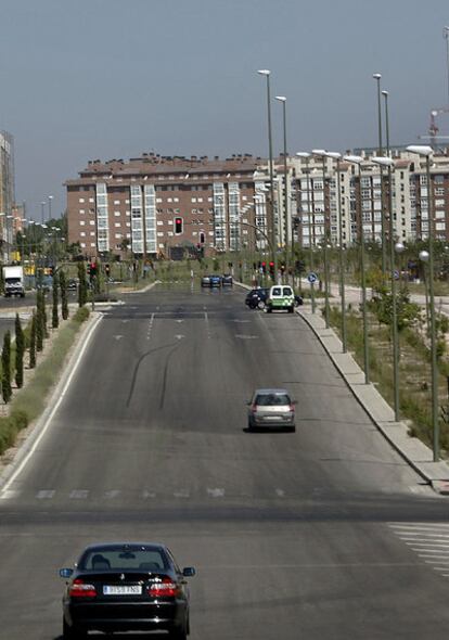
[[[390,157],[373,157],[373,163],[380,167],[387,167],[388,169],[388,213],[389,213],[389,261],[390,261],[390,276],[392,276],[392,331],[393,331],[393,391],[394,391],[394,407],[395,407],[395,421],[399,421],[399,344],[398,344],[398,312],[397,312],[397,299],[396,299],[396,272],[395,272],[395,228],[393,220],[393,180],[392,180],[392,167],[395,165],[395,161]],[[383,188],[382,183],[382,188]]]

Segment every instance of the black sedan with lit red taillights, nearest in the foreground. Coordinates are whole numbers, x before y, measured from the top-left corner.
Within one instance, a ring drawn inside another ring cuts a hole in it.
[[[167,547],[117,542],[88,547],[75,568],[60,569],[66,578],[63,635],[81,638],[87,631],[164,630],[185,640],[189,627],[187,577]]]

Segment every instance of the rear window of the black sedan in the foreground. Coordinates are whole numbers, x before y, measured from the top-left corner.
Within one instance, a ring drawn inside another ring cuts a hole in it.
[[[168,568],[165,554],[156,547],[106,547],[86,552],[79,563],[79,568],[87,571],[123,571],[146,569],[157,571]]]

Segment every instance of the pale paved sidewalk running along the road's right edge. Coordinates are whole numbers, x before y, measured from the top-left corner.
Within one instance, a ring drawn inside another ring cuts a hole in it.
[[[235,284],[243,289],[252,289],[239,282]],[[338,287],[336,289],[336,293],[338,293]],[[418,438],[410,437],[406,423],[395,421],[395,412],[392,407],[372,383],[364,383],[363,371],[350,354],[343,353],[341,340],[332,329],[325,328],[325,321],[321,313],[312,313],[308,307],[299,307],[296,312],[307,322],[321,342],[355,398],[379,431],[438,494],[449,495],[449,464],[444,461],[434,462],[432,449]]]

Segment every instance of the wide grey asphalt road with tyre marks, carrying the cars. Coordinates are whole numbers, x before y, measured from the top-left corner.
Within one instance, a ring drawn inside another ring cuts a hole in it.
[[[0,496],[1,639],[59,638],[59,567],[132,539],[196,567],[192,640],[446,640],[448,499],[300,318],[243,298],[157,286],[105,313]],[[296,434],[246,432],[245,401],[271,385],[297,400]]]

